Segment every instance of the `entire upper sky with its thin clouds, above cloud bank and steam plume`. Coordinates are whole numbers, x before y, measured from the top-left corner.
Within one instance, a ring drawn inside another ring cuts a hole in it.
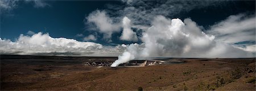
[[[230,38],[229,35],[234,37],[240,30],[231,32],[233,34],[220,32],[221,26],[229,25],[221,22],[229,22],[232,15],[235,18],[230,20],[236,24],[255,19],[255,1],[1,1],[1,39],[18,42],[20,34],[32,36],[42,32],[52,38],[98,43],[104,48],[143,44],[143,32],[154,26],[152,21],[158,15],[167,19],[179,18],[183,22],[189,18],[200,31],[232,47],[255,47],[252,35],[251,38],[235,41],[233,39],[236,37]],[[121,38],[125,29],[122,24],[125,16],[131,23],[127,30],[131,29],[131,34],[136,35],[130,36],[136,37],[134,39]],[[104,19],[106,22],[102,22]],[[244,31],[255,35],[253,30],[255,27]],[[27,34],[28,31],[34,33]],[[243,34],[246,35],[245,32]]]

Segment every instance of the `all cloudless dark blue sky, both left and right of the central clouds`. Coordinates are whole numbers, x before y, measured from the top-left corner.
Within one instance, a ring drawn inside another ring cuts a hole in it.
[[[77,34],[87,36],[95,31],[90,31],[84,23],[84,19],[92,11],[106,10],[108,5],[125,5],[121,1],[45,1],[50,6],[34,7],[30,2],[18,2],[18,6],[12,10],[1,11],[1,38],[15,41],[20,34],[28,31],[48,32],[53,38],[70,38],[82,41]],[[220,20],[226,19],[230,15],[240,13],[255,14],[255,1],[230,1],[223,2],[222,5],[209,6],[190,11],[181,11],[169,18],[191,18],[199,26],[208,28]],[[109,44],[102,39],[102,34],[97,32],[96,43]],[[112,35],[112,43],[129,44],[119,40],[120,32]],[[138,43],[138,42],[137,42]]]

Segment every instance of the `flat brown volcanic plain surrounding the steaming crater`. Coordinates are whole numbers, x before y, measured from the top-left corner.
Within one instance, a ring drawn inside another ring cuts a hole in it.
[[[255,90],[255,58],[93,67],[117,57],[1,55],[1,90]]]

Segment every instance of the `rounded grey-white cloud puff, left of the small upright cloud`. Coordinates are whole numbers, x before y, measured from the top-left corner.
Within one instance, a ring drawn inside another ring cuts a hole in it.
[[[93,24],[96,27],[94,30],[103,33],[105,39],[110,39],[113,32],[118,32],[121,28],[120,24],[113,22],[104,10],[93,11],[86,20],[86,24]]]

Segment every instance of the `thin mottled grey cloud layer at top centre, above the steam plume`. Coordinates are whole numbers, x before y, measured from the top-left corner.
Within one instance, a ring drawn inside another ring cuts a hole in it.
[[[207,6],[221,5],[220,1],[134,1],[122,0],[125,4],[108,5],[108,13],[111,15],[127,16],[133,21],[134,28],[147,30],[151,26],[151,20],[157,15],[174,16],[193,9]],[[107,10],[106,10],[107,11]],[[122,18],[118,18],[122,19]]]

